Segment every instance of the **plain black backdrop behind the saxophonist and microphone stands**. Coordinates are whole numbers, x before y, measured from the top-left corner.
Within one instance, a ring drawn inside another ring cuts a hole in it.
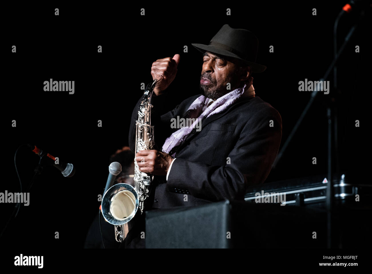
[[[17,219],[2,241],[19,248],[82,248],[87,230],[98,212],[97,195],[108,175],[109,156],[128,145],[130,115],[142,96],[141,83],[152,80],[151,64],[181,55],[174,106],[199,93],[202,55],[191,43],[208,44],[224,25],[249,29],[259,38],[257,63],[264,73],[253,74],[256,96],[276,108],[283,121],[282,143],[310,99],[298,82],[319,80],[333,60],[333,23],[345,1],[259,4],[229,2],[192,4],[22,5],[4,7],[2,52],[3,182],[1,192],[19,192],[14,166],[18,146],[32,143],[73,163],[76,174],[64,178],[45,168],[21,206]],[[59,16],[54,9],[59,8]],[[145,16],[140,9],[145,8]],[[231,16],[226,15],[231,9]],[[312,9],[317,15],[312,15]],[[359,12],[343,17],[339,45]],[[367,126],[366,96],[371,88],[368,51],[370,21],[355,31],[338,63],[339,89],[319,94],[298,132],[267,182],[327,172],[326,106],[335,98],[339,113],[340,170],[362,174]],[[12,53],[16,45],[16,53]],[[98,45],[102,53],[97,52]],[[183,52],[187,45],[188,52]],[[274,52],[269,52],[269,46]],[[359,45],[360,52],[355,52]],[[44,81],[75,81],[75,93],[45,92]],[[12,127],[16,120],[16,127]],[[97,121],[102,120],[102,127]],[[355,127],[355,120],[360,127]],[[156,129],[155,129],[156,132]],[[317,165],[312,164],[317,157]],[[369,159],[369,158],[367,158]],[[17,153],[23,192],[31,180],[38,156],[27,148]],[[367,183],[367,182],[366,182]],[[369,183],[369,182],[368,182]],[[1,223],[13,205],[1,204]],[[3,225],[1,226],[3,227]],[[58,231],[60,239],[54,238]]]

